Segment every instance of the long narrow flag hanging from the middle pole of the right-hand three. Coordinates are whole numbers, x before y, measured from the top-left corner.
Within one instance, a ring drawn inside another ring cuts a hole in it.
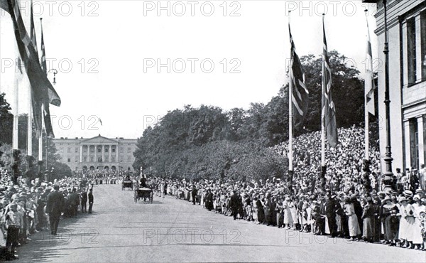
[[[322,58],[322,125],[327,134],[329,146],[335,147],[337,139],[336,108],[332,100],[332,71],[329,66],[327,39],[325,38],[324,16],[322,17],[322,33],[324,36]]]

